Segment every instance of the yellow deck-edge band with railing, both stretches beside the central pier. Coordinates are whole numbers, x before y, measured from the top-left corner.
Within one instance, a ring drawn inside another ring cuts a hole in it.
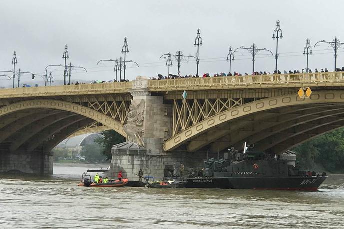
[[[80,84],[0,89],[0,98],[128,93],[133,82]],[[214,90],[242,88],[288,88],[301,86],[343,86],[344,72],[248,75],[209,78],[149,80],[152,92],[173,90]]]

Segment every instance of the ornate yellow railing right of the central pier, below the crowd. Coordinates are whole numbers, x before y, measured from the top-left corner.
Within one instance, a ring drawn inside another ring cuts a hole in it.
[[[181,78],[150,80],[149,88],[240,85],[240,84],[275,84],[308,82],[344,82],[344,72],[318,72],[301,74],[244,75],[208,78]]]

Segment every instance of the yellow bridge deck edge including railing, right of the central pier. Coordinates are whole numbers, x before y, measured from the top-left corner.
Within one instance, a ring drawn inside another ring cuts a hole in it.
[[[344,72],[247,75],[149,81],[150,91],[342,86]]]

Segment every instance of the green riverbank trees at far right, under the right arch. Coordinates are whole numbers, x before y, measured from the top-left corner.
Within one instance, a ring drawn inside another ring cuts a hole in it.
[[[311,139],[293,149],[300,167],[322,165],[330,172],[344,172],[344,128]]]

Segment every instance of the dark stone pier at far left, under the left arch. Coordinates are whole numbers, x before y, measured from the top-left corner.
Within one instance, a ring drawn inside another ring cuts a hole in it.
[[[0,173],[22,172],[36,175],[52,175],[53,156],[42,151],[1,151]]]

